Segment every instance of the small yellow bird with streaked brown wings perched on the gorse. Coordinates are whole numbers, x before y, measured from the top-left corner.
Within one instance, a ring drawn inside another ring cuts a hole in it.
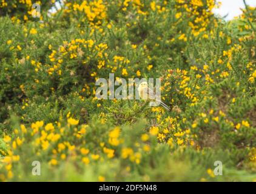
[[[139,95],[140,95],[140,98],[141,99],[153,99],[155,98],[155,96],[153,96],[155,94],[154,91],[152,91],[147,82],[146,81],[143,81],[140,83],[139,87],[138,87],[138,92],[139,92]],[[164,102],[162,101],[159,101],[160,102],[160,105],[162,107],[164,107],[164,109],[170,111],[170,108],[168,107],[168,105],[164,104]]]

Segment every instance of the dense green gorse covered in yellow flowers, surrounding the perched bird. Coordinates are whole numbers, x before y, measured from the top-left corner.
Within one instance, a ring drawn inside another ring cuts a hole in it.
[[[256,180],[256,8],[56,2],[0,2],[1,181]],[[170,112],[97,99],[109,73],[160,78]]]

